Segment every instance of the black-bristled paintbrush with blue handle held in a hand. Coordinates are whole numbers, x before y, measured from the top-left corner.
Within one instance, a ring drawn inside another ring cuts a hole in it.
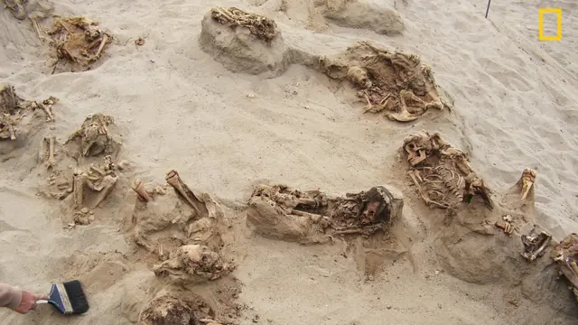
[[[87,296],[78,280],[52,284],[48,300],[39,300],[36,303],[50,303],[63,315],[81,314],[89,311]]]

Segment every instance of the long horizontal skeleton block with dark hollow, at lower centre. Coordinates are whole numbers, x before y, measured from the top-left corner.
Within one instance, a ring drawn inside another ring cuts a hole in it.
[[[372,187],[345,197],[319,190],[293,190],[260,185],[249,200],[247,220],[264,237],[322,243],[333,236],[371,236],[401,218],[403,199],[385,187]]]

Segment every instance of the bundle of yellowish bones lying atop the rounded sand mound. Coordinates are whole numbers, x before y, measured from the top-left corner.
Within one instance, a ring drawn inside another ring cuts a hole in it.
[[[213,7],[210,14],[219,23],[233,28],[246,27],[257,38],[267,43],[273,41],[279,34],[275,21],[260,14],[249,14],[235,7]]]

